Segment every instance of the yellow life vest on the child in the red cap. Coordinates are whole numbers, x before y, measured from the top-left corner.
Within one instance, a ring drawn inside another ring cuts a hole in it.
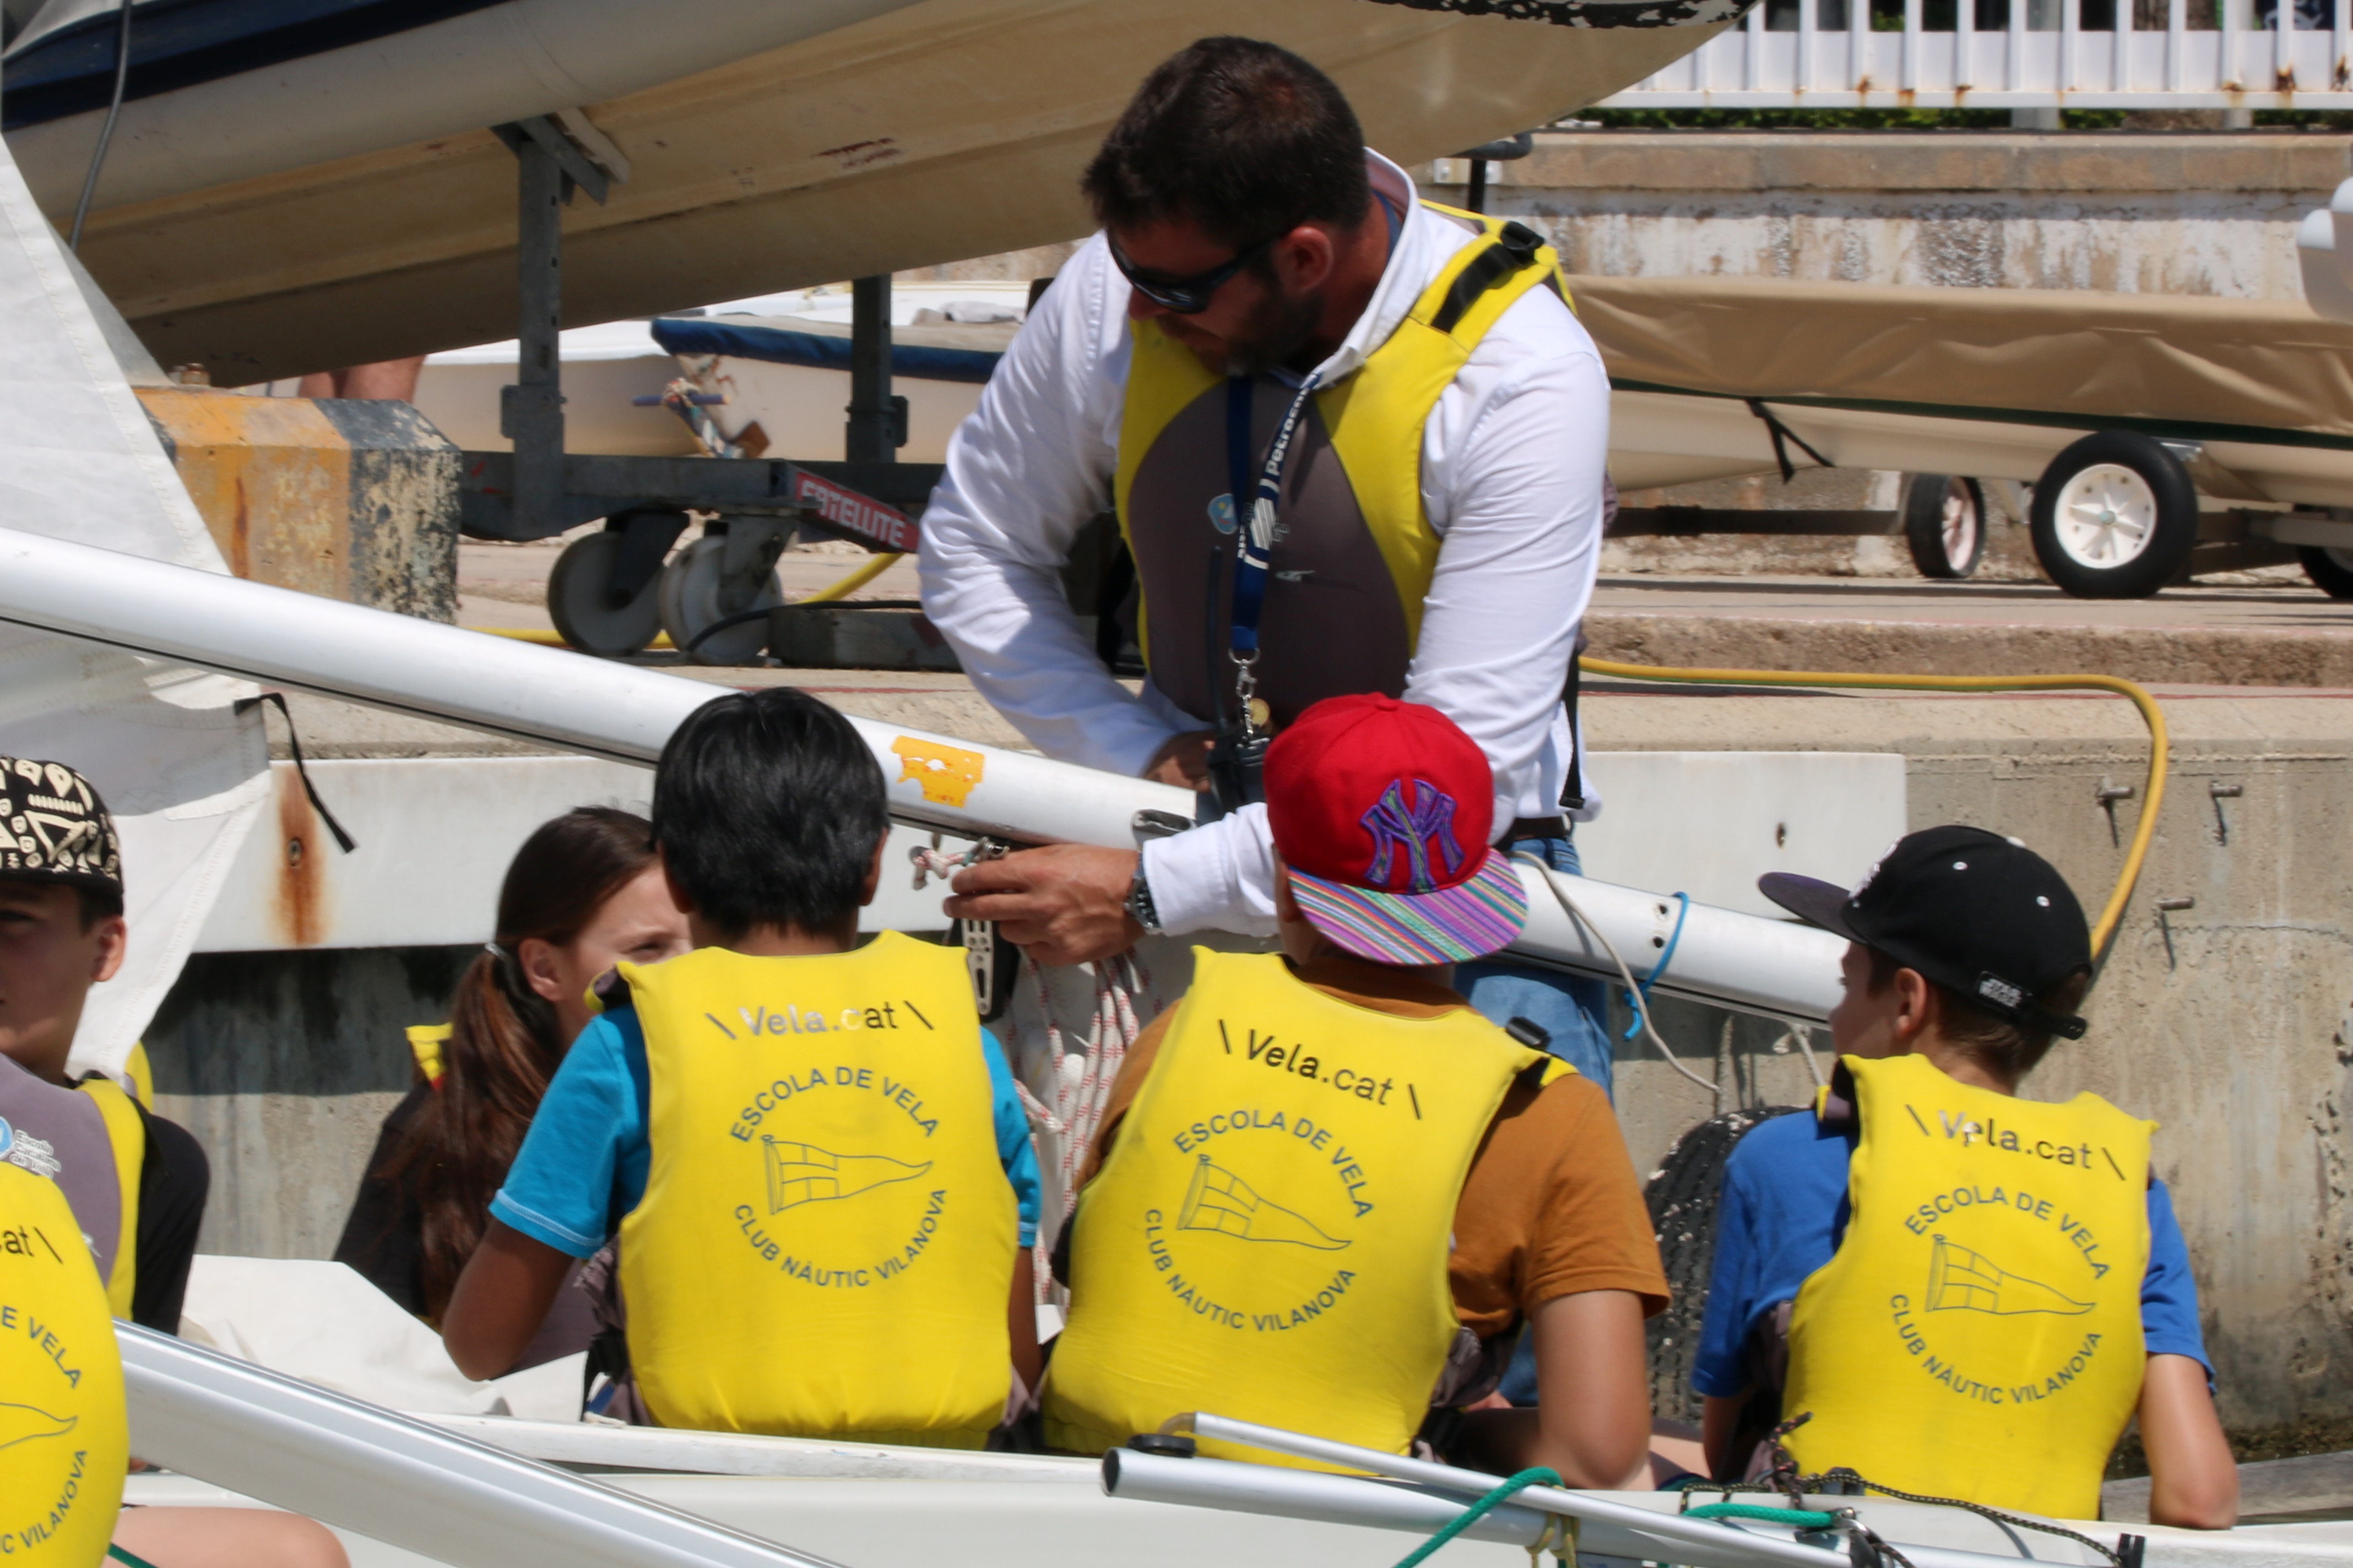
[[[1405,1453],[1459,1324],[1447,1251],[1471,1157],[1537,1065],[1569,1072],[1471,1009],[1400,1018],[1275,954],[1195,950],[1078,1201],[1047,1443],[1101,1453],[1212,1410]]]

